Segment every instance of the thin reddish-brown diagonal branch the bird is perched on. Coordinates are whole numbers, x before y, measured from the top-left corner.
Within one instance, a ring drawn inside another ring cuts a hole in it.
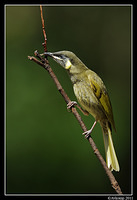
[[[47,42],[46,42],[47,38],[46,38],[46,32],[45,32],[45,27],[44,27],[44,19],[43,19],[43,14],[42,14],[42,6],[40,6],[40,10],[41,10],[41,20],[42,20],[43,35],[44,35],[44,39],[45,39],[43,46],[44,46],[44,51],[47,51],[47,46],[46,46],[47,45]],[[40,56],[40,54],[38,53],[38,51],[35,51],[34,55],[36,57],[38,57],[40,59],[40,61],[38,59],[36,59],[35,57],[33,57],[33,56],[28,56],[28,59],[34,61],[35,63],[37,63],[38,65],[42,66],[44,69],[46,69],[48,71],[48,73],[50,74],[50,76],[53,79],[54,83],[56,84],[56,87],[57,87],[58,91],[60,92],[60,94],[64,98],[65,102],[68,104],[71,100],[68,97],[68,95],[66,94],[66,92],[64,91],[64,89],[62,88],[60,82],[58,81],[56,75],[54,74],[52,68],[50,67],[48,60],[45,59],[45,58],[43,58],[42,56]],[[71,111],[72,111],[73,115],[76,117],[76,119],[77,119],[78,123],[80,124],[82,130],[84,132],[87,131],[87,128],[86,128],[84,122],[82,121],[81,116],[77,112],[76,108],[75,107],[71,107]],[[92,137],[89,136],[87,138],[87,140],[89,141],[90,146],[92,147],[95,155],[97,156],[97,158],[100,161],[100,163],[102,164],[102,166],[103,166],[106,174],[108,175],[109,180],[110,180],[110,182],[112,184],[112,187],[115,189],[115,191],[118,194],[122,194],[122,191],[121,191],[121,188],[120,188],[118,182],[116,181],[116,179],[115,179],[114,175],[112,174],[112,172],[108,169],[108,167],[106,165],[106,162],[104,161],[102,155],[100,154],[99,150],[97,149],[96,144],[93,141]]]

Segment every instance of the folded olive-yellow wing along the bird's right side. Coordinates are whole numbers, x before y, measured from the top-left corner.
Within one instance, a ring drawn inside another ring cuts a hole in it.
[[[107,89],[103,81],[95,72],[91,70],[87,70],[87,77],[88,77],[90,86],[92,88],[92,91],[94,92],[96,98],[98,99],[102,109],[104,110],[104,113],[106,117],[108,118],[108,121],[111,123],[114,130],[116,130],[114,119],[113,119],[111,102],[110,102]]]

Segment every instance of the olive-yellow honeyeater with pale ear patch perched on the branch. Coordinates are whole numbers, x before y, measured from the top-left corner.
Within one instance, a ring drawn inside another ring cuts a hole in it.
[[[44,52],[44,55],[52,57],[68,71],[75,96],[82,106],[81,108],[76,102],[70,102],[68,108],[77,105],[83,113],[90,113],[95,118],[92,128],[83,133],[85,137],[89,136],[96,122],[100,123],[104,138],[107,166],[111,171],[119,171],[119,163],[111,135],[112,128],[115,131],[116,128],[110,98],[103,81],[71,51]]]

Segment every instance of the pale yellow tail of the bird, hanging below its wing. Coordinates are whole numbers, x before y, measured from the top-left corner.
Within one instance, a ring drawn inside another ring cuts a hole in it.
[[[120,168],[119,168],[116,152],[115,152],[113,141],[112,141],[111,130],[108,125],[106,128],[102,128],[102,129],[103,129],[103,138],[104,138],[107,166],[111,171],[113,171],[113,169],[115,171],[119,171]]]

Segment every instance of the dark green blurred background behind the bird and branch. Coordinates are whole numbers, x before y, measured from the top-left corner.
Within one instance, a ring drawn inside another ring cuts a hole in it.
[[[113,106],[123,193],[131,193],[131,7],[44,6],[48,51],[70,50],[104,81]],[[6,191],[114,193],[49,74],[29,61],[43,52],[39,6],[6,6]],[[49,58],[71,100],[66,71]],[[80,113],[86,126],[92,116]],[[100,125],[92,137],[105,158]]]

